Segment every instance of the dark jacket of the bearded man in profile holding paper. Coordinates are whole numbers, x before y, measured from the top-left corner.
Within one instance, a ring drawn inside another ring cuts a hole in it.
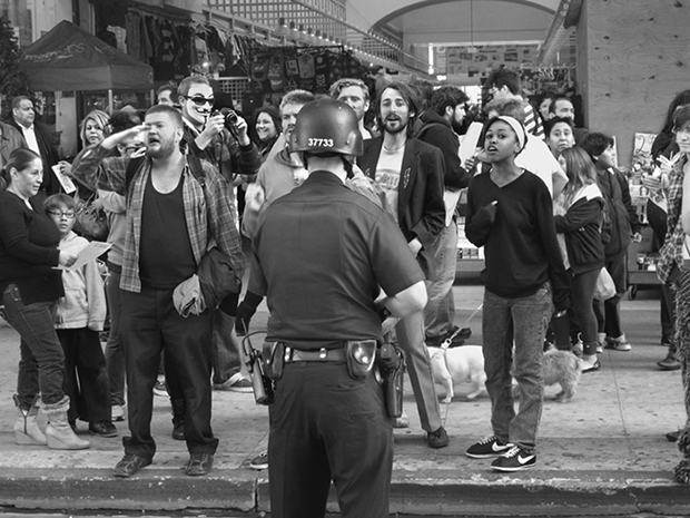
[[[423,126],[417,134],[417,138],[432,146],[436,146],[443,153],[445,163],[443,185],[445,188],[457,190],[466,187],[470,183],[470,175],[460,165],[460,156],[457,155],[460,140],[455,131],[453,131],[451,123],[432,109],[424,111],[420,119]]]

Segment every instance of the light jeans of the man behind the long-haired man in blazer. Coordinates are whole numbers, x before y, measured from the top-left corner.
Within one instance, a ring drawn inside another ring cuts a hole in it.
[[[453,221],[434,243],[431,277],[426,281],[428,302],[424,309],[427,345],[438,346],[453,328],[455,300],[453,282],[457,264],[457,225]]]

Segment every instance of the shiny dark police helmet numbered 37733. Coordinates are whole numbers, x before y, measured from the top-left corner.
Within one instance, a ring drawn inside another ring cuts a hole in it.
[[[331,98],[307,102],[297,114],[289,150],[361,156],[364,145],[355,111],[345,102]]]

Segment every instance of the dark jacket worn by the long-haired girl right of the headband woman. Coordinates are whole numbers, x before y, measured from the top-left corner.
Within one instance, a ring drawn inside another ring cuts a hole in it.
[[[603,208],[601,196],[582,196],[562,216],[554,216],[555,232],[564,234],[568,261],[573,275],[600,270],[604,248],[599,226]]]

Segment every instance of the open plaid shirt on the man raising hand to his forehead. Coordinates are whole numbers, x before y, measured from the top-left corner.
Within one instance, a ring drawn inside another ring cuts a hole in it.
[[[127,198],[127,233],[122,256],[120,289],[139,293],[139,245],[141,240],[141,208],[144,192],[151,173],[151,160],[147,158],[144,167],[132,178],[129,188],[125,185],[129,158],[109,157],[109,149],[102,146],[86,149],[72,164],[72,175],[92,189],[112,190]],[[245,272],[245,256],[241,241],[227,197],[227,183],[216,168],[201,160],[206,174],[205,187],[194,177],[188,165],[183,170],[183,203],[185,221],[189,233],[191,252],[197,263],[214,244],[230,258],[238,281]],[[127,189],[127,193],[126,193]]]

